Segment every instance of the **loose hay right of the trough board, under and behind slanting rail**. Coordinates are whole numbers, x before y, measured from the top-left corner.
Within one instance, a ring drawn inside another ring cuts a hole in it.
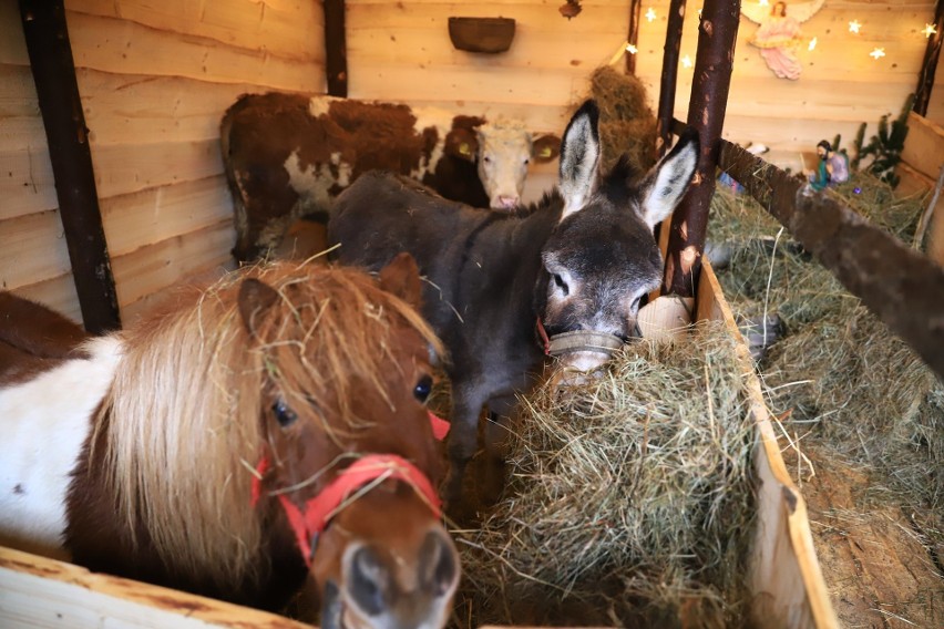
[[[925,205],[864,174],[834,194],[905,243]],[[786,328],[758,365],[773,412],[789,413],[807,443],[868,467],[866,501],[921,514],[926,542],[944,548],[944,384],[786,233],[773,255],[779,225],[749,197],[719,190],[711,212],[709,238],[739,243],[718,272],[732,310],[766,306]]]

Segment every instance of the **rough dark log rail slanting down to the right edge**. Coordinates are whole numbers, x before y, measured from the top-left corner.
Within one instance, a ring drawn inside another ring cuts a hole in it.
[[[944,378],[944,268],[828,194],[720,141],[719,166]]]

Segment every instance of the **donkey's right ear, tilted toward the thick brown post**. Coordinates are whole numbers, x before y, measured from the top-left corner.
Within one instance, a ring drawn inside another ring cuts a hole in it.
[[[687,128],[671,152],[646,174],[640,186],[643,220],[654,229],[681,200],[698,164],[698,132]]]

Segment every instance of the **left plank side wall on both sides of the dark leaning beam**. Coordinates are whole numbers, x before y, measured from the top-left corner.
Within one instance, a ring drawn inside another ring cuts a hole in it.
[[[68,0],[124,322],[229,264],[219,120],[244,92],[322,92],[309,0]],[[0,0],[0,286],[80,320],[17,0]]]

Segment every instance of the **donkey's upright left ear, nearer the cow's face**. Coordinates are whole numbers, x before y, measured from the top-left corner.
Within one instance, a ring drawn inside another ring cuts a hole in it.
[[[561,174],[557,188],[564,197],[564,214],[577,212],[596,188],[599,164],[599,109],[595,101],[584,103],[564,131],[561,144]]]

